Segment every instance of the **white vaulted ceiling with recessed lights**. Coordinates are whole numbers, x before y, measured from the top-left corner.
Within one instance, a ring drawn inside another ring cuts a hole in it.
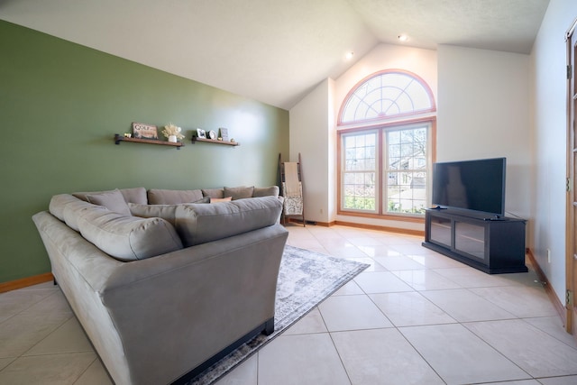
[[[290,109],[379,43],[528,54],[548,3],[0,0],[0,19]]]

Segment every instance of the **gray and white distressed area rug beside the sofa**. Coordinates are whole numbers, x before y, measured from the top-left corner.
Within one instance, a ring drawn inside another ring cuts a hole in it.
[[[208,385],[220,379],[367,267],[364,263],[285,246],[277,283],[274,333],[254,337],[188,381],[188,385]]]

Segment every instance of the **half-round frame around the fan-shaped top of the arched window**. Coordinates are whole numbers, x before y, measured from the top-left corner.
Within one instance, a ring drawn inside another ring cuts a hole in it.
[[[426,91],[426,94],[429,97],[429,101],[431,102],[431,107],[425,108],[425,109],[414,110],[414,111],[411,111],[409,113],[401,113],[401,114],[395,114],[395,115],[381,115],[381,116],[377,116],[377,117],[374,117],[371,119],[359,119],[359,120],[355,120],[353,122],[343,122],[343,115],[345,112],[344,110],[347,107],[347,105],[349,105],[349,101],[350,101],[351,97],[354,95],[354,93],[360,87],[362,87],[365,83],[369,82],[371,79],[379,78],[379,77],[382,77],[384,75],[389,75],[389,74],[400,74],[400,75],[408,76],[409,78],[414,78],[417,81],[417,83],[421,87],[423,87],[423,89]],[[380,70],[378,72],[372,73],[371,75],[367,76],[366,78],[363,78],[353,88],[351,88],[351,90],[348,92],[348,94],[344,97],[343,104],[341,105],[341,108],[339,109],[337,125],[338,126],[346,126],[346,125],[358,125],[358,124],[371,124],[374,122],[387,121],[389,119],[398,119],[398,118],[402,118],[404,116],[415,116],[415,115],[422,115],[422,114],[434,113],[434,112],[436,112],[435,96],[433,95],[433,91],[431,90],[431,87],[428,86],[428,84],[426,83],[426,81],[423,78],[421,78],[417,74],[410,72],[408,70],[405,70],[405,69],[383,69],[383,70]]]

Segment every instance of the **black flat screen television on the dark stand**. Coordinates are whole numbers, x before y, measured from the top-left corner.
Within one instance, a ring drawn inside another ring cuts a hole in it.
[[[433,205],[505,216],[505,158],[439,162],[433,166]]]

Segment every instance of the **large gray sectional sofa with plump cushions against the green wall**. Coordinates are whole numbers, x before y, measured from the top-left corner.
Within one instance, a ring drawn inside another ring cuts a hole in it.
[[[273,331],[288,236],[278,194],[126,188],[60,194],[33,215],[52,274],[117,385],[191,378]]]

